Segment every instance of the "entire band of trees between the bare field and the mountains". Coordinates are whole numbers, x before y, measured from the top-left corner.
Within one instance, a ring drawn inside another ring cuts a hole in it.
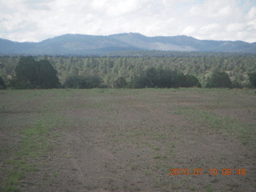
[[[254,56],[198,58],[2,57],[0,87],[254,86]]]

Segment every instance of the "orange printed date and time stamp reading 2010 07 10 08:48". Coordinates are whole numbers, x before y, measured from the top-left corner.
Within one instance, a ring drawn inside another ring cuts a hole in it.
[[[170,169],[170,175],[246,175],[246,169],[202,169],[202,168],[196,168],[196,169]]]

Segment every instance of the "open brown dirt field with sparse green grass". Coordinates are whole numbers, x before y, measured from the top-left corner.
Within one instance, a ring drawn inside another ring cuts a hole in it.
[[[255,101],[255,90],[0,90],[0,191],[255,191]]]

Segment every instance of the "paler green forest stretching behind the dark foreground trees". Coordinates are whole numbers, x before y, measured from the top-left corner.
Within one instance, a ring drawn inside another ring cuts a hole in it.
[[[164,53],[164,52],[163,52]],[[206,79],[216,71],[224,71],[234,85],[247,86],[248,73],[256,71],[256,56],[250,54],[173,54],[169,57],[36,57],[35,60],[48,59],[58,71],[60,82],[70,76],[102,78],[103,84],[113,87],[115,80],[125,78],[126,82],[142,76],[150,67],[162,70],[176,70],[198,78],[202,86]],[[171,55],[171,54],[170,54]],[[0,76],[6,84],[15,75],[18,57],[0,58]]]

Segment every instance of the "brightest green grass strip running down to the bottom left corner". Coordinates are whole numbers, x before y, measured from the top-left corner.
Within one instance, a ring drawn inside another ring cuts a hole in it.
[[[18,191],[19,181],[25,177],[26,173],[39,169],[38,165],[33,162],[51,149],[50,132],[61,120],[54,114],[42,116],[40,120],[34,122],[34,125],[22,130],[19,150],[13,158],[6,161],[12,169],[7,171],[6,178],[2,182],[3,189]]]

